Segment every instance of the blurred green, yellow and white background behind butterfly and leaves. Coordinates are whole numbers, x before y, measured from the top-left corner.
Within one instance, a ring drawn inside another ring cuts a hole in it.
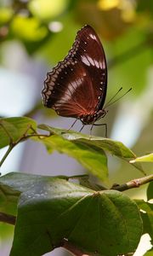
[[[137,155],[153,150],[153,1],[151,0],[1,0],[0,1],[0,116],[28,116],[37,122],[69,128],[74,121],[58,117],[42,106],[46,73],[61,61],[85,24],[93,26],[105,49],[108,64],[106,102],[122,86],[133,88],[113,104],[105,117],[109,137],[125,143]],[[121,93],[122,95],[122,93]],[[80,129],[77,122],[74,129]],[[83,132],[89,131],[89,127]],[[103,127],[94,135],[104,136]],[[3,157],[6,148],[0,151]],[[108,155],[110,184],[142,174]],[[147,174],[151,165],[145,165]],[[14,148],[1,168],[7,172],[75,175],[86,172],[76,160],[28,141]],[[144,198],[145,189],[128,195]],[[13,227],[0,224],[0,255],[8,256]],[[134,256],[144,255],[150,237],[144,236]],[[45,255],[64,255],[56,249]]]

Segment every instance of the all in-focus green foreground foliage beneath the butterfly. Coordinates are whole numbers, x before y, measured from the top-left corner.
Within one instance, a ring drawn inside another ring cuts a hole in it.
[[[75,157],[105,183],[108,174],[105,152],[127,163],[136,158],[129,148],[108,138],[88,137],[48,125],[38,128],[49,134],[37,132],[33,119],[0,119],[0,137],[3,137],[0,147],[8,145],[3,160],[16,144],[31,138],[43,143],[48,153],[56,149]],[[143,171],[141,166],[136,167]],[[0,177],[0,211],[16,216],[10,255],[42,255],[68,243],[82,253],[116,256],[135,251],[142,229],[152,237],[149,202],[135,203],[115,187],[108,189],[105,185],[95,189],[96,184],[84,182],[82,186],[71,183],[71,178],[14,172]],[[76,178],[82,183],[83,176]],[[150,199],[150,188],[148,191]],[[139,209],[145,213],[140,214]]]

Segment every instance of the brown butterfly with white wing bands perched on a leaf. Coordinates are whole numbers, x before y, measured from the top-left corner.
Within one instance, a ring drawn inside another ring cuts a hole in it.
[[[83,126],[92,125],[93,128],[106,114],[103,108],[106,90],[105,51],[94,29],[86,25],[77,32],[64,61],[59,61],[47,73],[42,90],[43,104],[60,116],[80,119]],[[106,128],[106,124],[102,125]]]

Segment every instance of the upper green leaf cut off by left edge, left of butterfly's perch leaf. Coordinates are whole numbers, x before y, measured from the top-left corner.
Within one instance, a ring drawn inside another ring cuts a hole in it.
[[[31,134],[31,128],[37,129],[37,124],[33,119],[26,117],[0,119],[0,148],[16,143],[26,134]]]

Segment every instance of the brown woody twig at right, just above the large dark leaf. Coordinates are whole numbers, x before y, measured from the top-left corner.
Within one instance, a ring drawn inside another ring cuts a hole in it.
[[[151,174],[149,176],[133,179],[133,180],[131,180],[127,183],[124,183],[122,185],[113,184],[111,189],[115,189],[118,191],[125,191],[127,189],[135,189],[135,188],[139,188],[139,186],[144,185],[145,183],[150,183],[151,181],[153,181],[153,174]]]

